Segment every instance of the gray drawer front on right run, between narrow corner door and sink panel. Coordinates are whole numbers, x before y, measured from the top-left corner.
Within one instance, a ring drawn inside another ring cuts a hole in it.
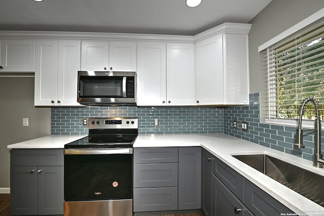
[[[213,174],[241,201],[243,201],[244,178],[218,158],[213,160]]]

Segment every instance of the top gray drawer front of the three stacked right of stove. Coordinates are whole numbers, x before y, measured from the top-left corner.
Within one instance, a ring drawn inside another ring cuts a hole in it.
[[[134,163],[178,163],[178,147],[134,148]]]

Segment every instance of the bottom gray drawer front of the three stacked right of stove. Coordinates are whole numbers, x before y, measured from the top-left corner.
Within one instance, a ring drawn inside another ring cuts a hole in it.
[[[134,212],[178,209],[178,188],[135,188]]]

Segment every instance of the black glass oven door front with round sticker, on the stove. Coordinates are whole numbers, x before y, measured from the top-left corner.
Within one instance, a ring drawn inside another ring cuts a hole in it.
[[[64,200],[133,197],[133,155],[64,155]]]

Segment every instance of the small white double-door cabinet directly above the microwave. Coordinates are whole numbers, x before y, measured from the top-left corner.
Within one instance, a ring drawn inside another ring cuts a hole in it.
[[[81,70],[136,71],[136,43],[83,41]]]

